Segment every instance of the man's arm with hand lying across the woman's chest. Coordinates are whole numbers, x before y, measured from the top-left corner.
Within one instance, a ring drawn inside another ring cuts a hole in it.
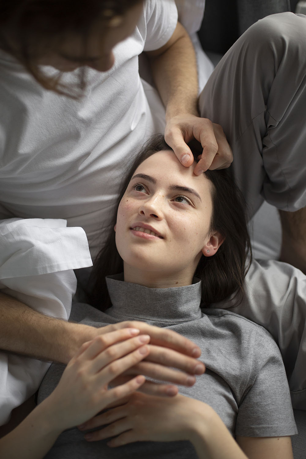
[[[84,342],[110,331],[130,327],[150,335],[150,354],[143,365],[130,369],[126,380],[140,371],[160,381],[192,386],[195,383],[193,375],[205,371],[204,364],[197,360],[200,348],[172,330],[139,321],[120,322],[100,328],[74,324],[41,314],[0,293],[0,348],[5,351],[67,364]],[[149,381],[145,382],[143,390],[170,396],[178,392],[172,385],[153,385]]]

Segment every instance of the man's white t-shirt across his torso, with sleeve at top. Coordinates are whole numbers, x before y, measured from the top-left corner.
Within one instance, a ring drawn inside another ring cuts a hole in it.
[[[138,55],[164,45],[177,19],[174,1],[146,1],[134,34],[114,49],[115,65],[88,69],[81,100],[41,88],[0,53],[0,218],[65,218],[94,250],[127,163],[156,130]]]

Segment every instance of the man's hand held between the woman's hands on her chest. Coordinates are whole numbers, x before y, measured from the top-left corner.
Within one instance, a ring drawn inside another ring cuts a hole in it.
[[[97,332],[104,334],[130,327],[137,328],[141,334],[150,336],[148,345],[150,353],[143,362],[134,365],[114,379],[112,386],[123,384],[139,374],[159,381],[192,386],[195,383],[195,375],[204,373],[205,365],[197,360],[201,354],[200,348],[172,330],[148,325],[145,322],[125,321],[99,328]],[[173,384],[158,384],[151,381],[145,381],[139,390],[159,396],[174,396],[178,393],[178,388]]]

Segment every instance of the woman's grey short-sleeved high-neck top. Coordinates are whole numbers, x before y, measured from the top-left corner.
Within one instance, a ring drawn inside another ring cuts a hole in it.
[[[142,320],[167,327],[194,341],[202,351],[204,375],[179,392],[212,406],[232,434],[246,437],[294,435],[295,421],[279,350],[271,336],[235,313],[200,307],[200,281],[186,287],[150,289],[107,278],[112,306],[105,313],[75,303],[71,320],[100,327],[124,320]],[[40,389],[39,402],[56,387],[64,370],[52,364]],[[154,451],[154,453],[152,453]],[[150,453],[149,453],[150,452]],[[83,433],[69,429],[45,456],[66,458],[196,458],[189,442],[138,442],[108,448],[106,441],[85,442]]]

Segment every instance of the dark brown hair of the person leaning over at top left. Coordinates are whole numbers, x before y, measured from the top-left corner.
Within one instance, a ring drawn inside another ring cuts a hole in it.
[[[39,69],[36,60],[56,51],[64,39],[78,35],[86,43],[93,25],[101,21],[101,30],[114,16],[121,16],[141,0],[0,0],[0,48],[16,57],[46,89],[73,96],[61,84],[61,72],[50,78]],[[84,86],[84,72],[79,73],[79,89]]]

